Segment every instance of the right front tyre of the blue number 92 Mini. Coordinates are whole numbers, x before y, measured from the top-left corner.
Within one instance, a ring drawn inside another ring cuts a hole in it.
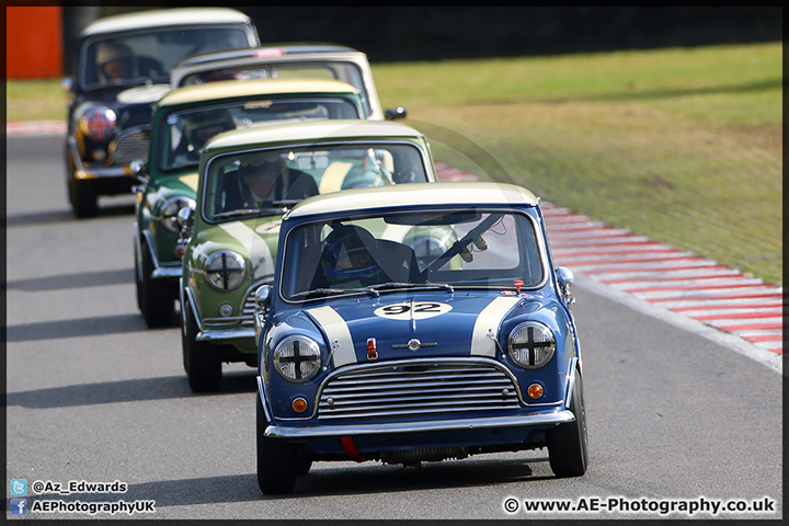
[[[575,375],[570,411],[575,415],[575,420],[550,430],[547,436],[550,467],[559,478],[581,477],[586,472],[588,462],[586,410],[581,371],[576,371]]]

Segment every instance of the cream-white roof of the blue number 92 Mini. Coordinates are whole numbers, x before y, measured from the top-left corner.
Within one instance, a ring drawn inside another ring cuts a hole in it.
[[[411,205],[537,205],[539,197],[508,183],[410,183],[344,190],[309,197],[296,205],[287,217],[358,211]]]

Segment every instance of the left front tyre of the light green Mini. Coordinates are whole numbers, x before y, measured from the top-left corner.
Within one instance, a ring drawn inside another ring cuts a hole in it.
[[[197,341],[197,321],[188,310],[188,302],[183,308],[181,346],[190,387],[194,392],[216,391],[221,384],[219,350],[210,343]]]

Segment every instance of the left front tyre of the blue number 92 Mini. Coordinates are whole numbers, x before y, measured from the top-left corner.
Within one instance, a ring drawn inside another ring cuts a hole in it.
[[[258,424],[258,485],[266,495],[290,493],[296,487],[300,462],[290,444],[265,436],[268,421],[263,412],[260,393],[256,399]],[[311,462],[310,462],[311,464]],[[309,469],[309,468],[308,468]]]

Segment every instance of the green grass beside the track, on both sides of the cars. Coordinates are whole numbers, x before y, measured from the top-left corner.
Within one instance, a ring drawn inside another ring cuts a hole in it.
[[[782,285],[782,43],[373,71],[438,160]],[[7,87],[65,118],[59,80]]]

